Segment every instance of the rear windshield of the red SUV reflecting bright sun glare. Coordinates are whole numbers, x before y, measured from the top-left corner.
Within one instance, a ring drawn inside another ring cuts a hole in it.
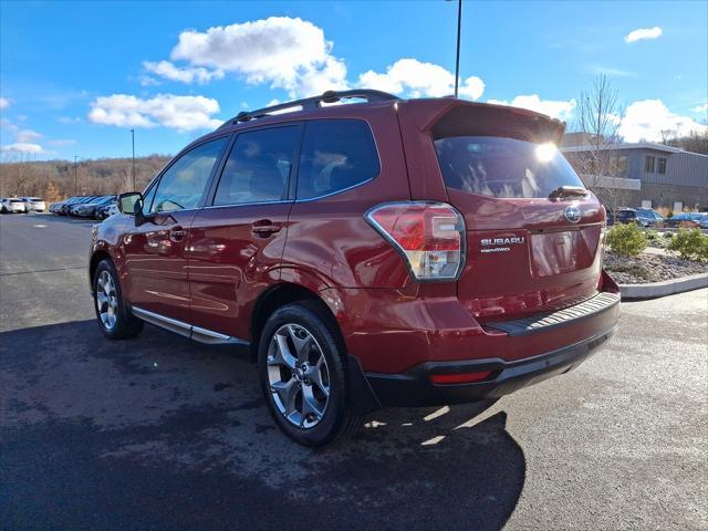
[[[493,136],[435,140],[448,188],[499,198],[548,197],[560,186],[584,187],[552,144]]]

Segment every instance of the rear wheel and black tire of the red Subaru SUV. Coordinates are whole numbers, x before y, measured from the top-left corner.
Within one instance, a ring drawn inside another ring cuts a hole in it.
[[[320,447],[361,425],[351,407],[343,342],[319,304],[273,312],[261,334],[258,368],[273,419],[296,442]]]

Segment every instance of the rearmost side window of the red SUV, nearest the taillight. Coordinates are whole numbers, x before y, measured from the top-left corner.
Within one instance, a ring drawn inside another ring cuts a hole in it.
[[[334,194],[381,171],[372,132],[360,119],[315,119],[305,125],[298,199]]]

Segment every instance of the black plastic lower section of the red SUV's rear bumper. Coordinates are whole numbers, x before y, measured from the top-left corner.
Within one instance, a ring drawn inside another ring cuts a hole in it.
[[[616,325],[584,341],[545,354],[508,362],[498,357],[460,362],[426,362],[400,374],[366,374],[382,406],[436,406],[498,398],[528,385],[568,373],[614,335]],[[468,384],[434,384],[436,374],[491,371],[490,379]]]

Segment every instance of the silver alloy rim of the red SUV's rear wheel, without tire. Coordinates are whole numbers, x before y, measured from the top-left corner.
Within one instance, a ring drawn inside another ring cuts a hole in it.
[[[268,381],[273,403],[301,429],[322,420],[330,402],[330,371],[322,347],[304,326],[284,324],[268,348]]]

